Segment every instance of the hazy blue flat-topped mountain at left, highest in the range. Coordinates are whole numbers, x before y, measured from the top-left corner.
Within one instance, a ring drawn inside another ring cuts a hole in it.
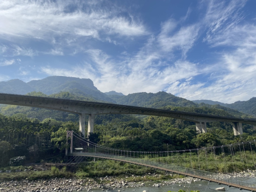
[[[100,92],[90,79],[76,77],[49,76],[45,79],[23,82],[19,79],[12,79],[7,82],[0,82],[0,93],[27,94],[32,91],[42,92],[46,95],[68,91],[76,95],[92,97],[93,99],[114,102],[106,94]]]

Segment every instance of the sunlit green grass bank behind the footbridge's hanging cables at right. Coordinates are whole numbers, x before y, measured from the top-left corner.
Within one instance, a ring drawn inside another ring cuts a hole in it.
[[[167,157],[145,159],[162,163],[180,165],[187,168],[204,169],[221,173],[255,170],[256,153],[252,151],[236,152],[235,155],[200,151],[197,153],[175,153]]]

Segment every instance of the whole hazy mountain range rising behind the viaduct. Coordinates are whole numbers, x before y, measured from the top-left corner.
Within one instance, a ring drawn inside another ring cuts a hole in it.
[[[211,100],[190,101],[163,91],[158,93],[132,93],[125,96],[124,94],[117,93],[115,91],[102,93],[94,86],[91,79],[80,79],[65,76],[49,76],[45,79],[32,80],[30,82],[23,82],[19,79],[0,82],[0,93],[25,95],[28,93],[31,94],[31,92],[33,94],[41,92],[45,95],[69,92],[75,95],[75,98],[87,98],[86,100],[152,108],[163,108],[165,106],[214,106],[215,108],[226,111],[228,111],[228,108],[237,110],[256,117],[256,97],[253,97],[248,101],[237,101],[235,103],[228,104]]]

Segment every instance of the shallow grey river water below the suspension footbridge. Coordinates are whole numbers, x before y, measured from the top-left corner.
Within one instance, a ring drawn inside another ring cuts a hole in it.
[[[247,178],[245,178],[247,179]],[[255,178],[249,178],[253,182],[255,182]],[[104,189],[105,192],[118,192],[118,190],[121,190],[121,192],[142,192],[143,190],[146,190],[147,192],[168,192],[168,191],[174,191],[177,192],[178,190],[182,189],[186,192],[190,192],[190,190],[199,190],[200,192],[217,192],[215,189],[219,187],[225,187],[225,190],[228,192],[249,192],[248,190],[239,190],[235,187],[229,187],[227,185],[218,185],[218,183],[210,182],[208,181],[200,181],[200,182],[191,182],[191,184],[180,184],[176,183],[173,185],[161,185],[161,187],[152,187],[152,185],[156,182],[146,182],[145,186],[143,187],[123,187],[121,189]],[[181,186],[179,186],[181,185]],[[87,191],[83,191],[87,192]],[[93,189],[90,190],[90,192],[102,192],[102,189]]]

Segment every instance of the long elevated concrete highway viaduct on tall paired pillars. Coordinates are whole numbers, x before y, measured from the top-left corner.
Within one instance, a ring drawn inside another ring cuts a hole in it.
[[[0,104],[18,105],[39,107],[51,110],[65,111],[69,113],[76,113],[80,116],[80,131],[85,135],[85,116],[89,115],[88,133],[93,132],[93,124],[95,114],[138,114],[138,115],[152,115],[161,117],[171,117],[174,119],[181,119],[192,121],[196,124],[197,131],[206,133],[207,122],[230,122],[232,123],[234,134],[242,134],[242,123],[256,125],[254,119],[243,119],[235,117],[222,117],[214,115],[206,115],[200,113],[188,113],[172,110],[160,110],[153,108],[145,108],[138,106],[126,106],[112,103],[98,103],[69,99],[55,99],[50,97],[25,96],[14,95],[7,93],[0,93]]]

